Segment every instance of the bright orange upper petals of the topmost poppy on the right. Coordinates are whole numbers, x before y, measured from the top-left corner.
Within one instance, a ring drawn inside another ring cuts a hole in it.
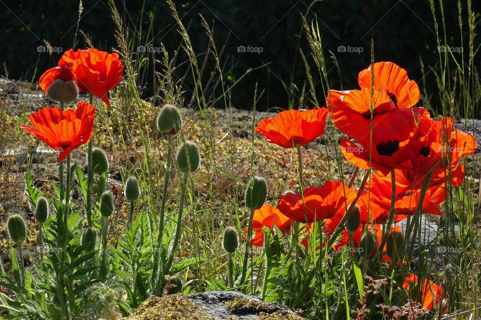
[[[385,90],[398,109],[411,108],[419,101],[419,88],[416,82],[409,80],[406,70],[395,63],[377,62],[361,71],[357,80],[361,89]]]

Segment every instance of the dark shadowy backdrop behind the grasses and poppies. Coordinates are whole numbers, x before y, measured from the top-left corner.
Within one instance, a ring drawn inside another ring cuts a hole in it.
[[[436,17],[441,24],[441,14],[436,3]],[[479,12],[479,2],[473,1],[473,11]],[[131,32],[131,39],[139,39],[132,43],[132,48],[152,40],[153,46],[162,42],[169,55],[178,50],[181,37],[172,18],[171,11],[163,0],[116,1],[126,27]],[[253,105],[254,88],[258,83],[258,109],[268,110],[273,107],[287,108],[297,106],[302,88],[309,90],[306,71],[299,55],[299,48],[308,57],[310,63],[310,48],[304,34],[300,15],[307,15],[307,20],[316,18],[322,33],[322,43],[326,56],[330,87],[341,89],[357,88],[357,74],[370,63],[371,38],[374,40],[375,60],[393,61],[407,69],[409,77],[418,82],[421,90],[424,88],[432,95],[430,102],[436,104],[438,99],[434,73],[430,67],[438,70],[439,55],[436,44],[433,18],[427,0],[366,0],[366,1],[336,1],[324,0],[309,2],[308,0],[200,0],[175,1],[177,11],[188,33],[198,58],[199,66],[208,44],[208,38],[200,24],[199,14],[209,25],[214,26],[214,40],[220,51],[225,44],[222,63],[227,61],[225,85],[238,79],[249,68],[264,67],[253,71],[234,89],[231,96],[233,106],[240,109],[251,109]],[[465,1],[461,2],[463,26],[459,30],[457,1],[443,2],[443,12],[448,43],[452,47],[461,46],[463,37],[464,62],[467,63],[467,10]],[[38,46],[44,46],[43,40],[52,47],[66,51],[72,48],[76,36],[78,19],[77,1],[54,0],[0,0],[0,64],[3,76],[10,79],[21,79],[34,82],[48,68],[55,66],[61,53],[52,56],[38,52]],[[116,47],[114,39],[114,24],[106,0],[84,0],[83,14],[79,29],[87,34],[96,48],[110,51]],[[478,21],[476,15],[476,22]],[[151,19],[153,19],[153,34],[147,36]],[[439,26],[442,36],[442,25]],[[142,30],[142,34],[136,34]],[[148,39],[147,39],[148,38]],[[77,35],[77,48],[85,48],[85,43]],[[475,37],[476,48],[479,37]],[[238,46],[262,47],[263,52],[238,52]],[[339,52],[339,46],[360,47],[361,53]],[[332,59],[331,51],[338,60],[340,76]],[[457,60],[461,54],[453,53]],[[425,78],[422,80],[419,58],[425,65]],[[158,56],[157,56],[158,58]],[[178,64],[185,62],[187,57],[180,53]],[[476,58],[475,65],[479,66]],[[314,64],[312,63],[312,66]],[[146,66],[152,68],[152,64]],[[188,64],[184,63],[177,70],[177,76],[185,73]],[[157,66],[159,68],[159,66]],[[210,71],[214,70],[213,59],[209,59],[203,82],[206,82]],[[453,71],[454,68],[452,68]],[[151,70],[146,72],[143,96],[152,95]],[[314,81],[319,75],[314,72]],[[205,78],[205,79],[204,79]],[[424,83],[423,83],[424,81]],[[186,78],[187,88],[185,98],[190,100],[193,79]],[[284,85],[283,85],[284,83]],[[294,84],[294,95],[290,94]],[[318,84],[318,92],[321,92]],[[296,89],[297,88],[297,89]],[[220,90],[220,88],[218,88]],[[261,94],[262,93],[262,94]],[[219,93],[217,93],[217,96]],[[310,98],[307,94],[307,98]],[[322,100],[322,97],[318,97]],[[305,100],[302,107],[310,107]],[[223,106],[223,104],[222,104]],[[220,107],[220,106],[219,106]]]

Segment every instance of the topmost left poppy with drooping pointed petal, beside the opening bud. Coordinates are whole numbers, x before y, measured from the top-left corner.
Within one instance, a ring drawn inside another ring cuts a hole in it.
[[[107,53],[97,49],[65,52],[59,66],[73,62],[80,91],[88,92],[107,104],[110,108],[107,92],[114,89],[122,79],[122,62],[116,53]]]

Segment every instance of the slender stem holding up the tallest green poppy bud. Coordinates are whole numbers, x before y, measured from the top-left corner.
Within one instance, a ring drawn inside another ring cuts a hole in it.
[[[165,203],[167,202],[167,191],[169,187],[169,177],[170,177],[170,164],[172,159],[172,135],[167,135],[168,139],[168,149],[167,149],[167,161],[165,165],[165,177],[164,177],[164,189],[162,192],[162,202],[160,203],[160,218],[159,218],[159,235],[157,236],[157,250],[154,251],[153,256],[153,268],[152,268],[152,278],[151,285],[152,290],[155,290],[158,284],[159,275],[159,258],[160,258],[160,248],[162,248],[161,241],[164,234],[164,212]]]

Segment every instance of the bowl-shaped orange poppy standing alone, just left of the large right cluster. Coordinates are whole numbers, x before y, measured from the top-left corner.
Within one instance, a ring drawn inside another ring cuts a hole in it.
[[[284,148],[303,146],[324,134],[326,116],[326,108],[285,110],[274,118],[262,120],[256,131],[262,134],[267,142]]]

